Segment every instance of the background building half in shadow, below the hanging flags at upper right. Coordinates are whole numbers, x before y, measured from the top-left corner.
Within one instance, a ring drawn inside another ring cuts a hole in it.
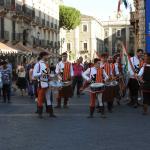
[[[104,52],[110,55],[120,53],[122,44],[129,53],[134,52],[134,34],[133,27],[130,25],[128,17],[120,14],[118,17],[114,13],[108,21],[103,21],[104,26]]]

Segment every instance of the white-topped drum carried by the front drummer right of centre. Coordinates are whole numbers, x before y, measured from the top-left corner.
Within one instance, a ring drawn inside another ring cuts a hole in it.
[[[92,83],[90,85],[91,91],[96,92],[96,91],[103,91],[105,89],[105,84],[103,83]]]

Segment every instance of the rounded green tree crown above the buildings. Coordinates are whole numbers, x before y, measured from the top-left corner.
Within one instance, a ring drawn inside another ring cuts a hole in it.
[[[59,26],[67,30],[75,29],[81,22],[81,13],[75,8],[60,6]]]

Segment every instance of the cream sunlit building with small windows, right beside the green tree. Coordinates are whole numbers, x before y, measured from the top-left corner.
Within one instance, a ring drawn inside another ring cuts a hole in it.
[[[103,51],[104,28],[94,17],[82,15],[81,24],[74,30],[66,31],[63,51],[68,51],[69,59],[76,60],[82,56],[84,60],[92,60],[97,53]]]

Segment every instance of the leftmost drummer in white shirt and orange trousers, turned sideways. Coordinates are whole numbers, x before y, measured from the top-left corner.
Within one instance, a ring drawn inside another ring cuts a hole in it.
[[[36,63],[33,69],[33,77],[38,80],[38,114],[39,118],[42,118],[43,113],[43,103],[45,102],[45,98],[47,97],[47,91],[49,90],[49,67],[47,65],[47,61],[49,58],[49,54],[47,52],[41,52],[40,60]],[[47,112],[49,112],[50,117],[55,117],[53,114],[53,108],[51,99],[46,99],[47,101]]]

